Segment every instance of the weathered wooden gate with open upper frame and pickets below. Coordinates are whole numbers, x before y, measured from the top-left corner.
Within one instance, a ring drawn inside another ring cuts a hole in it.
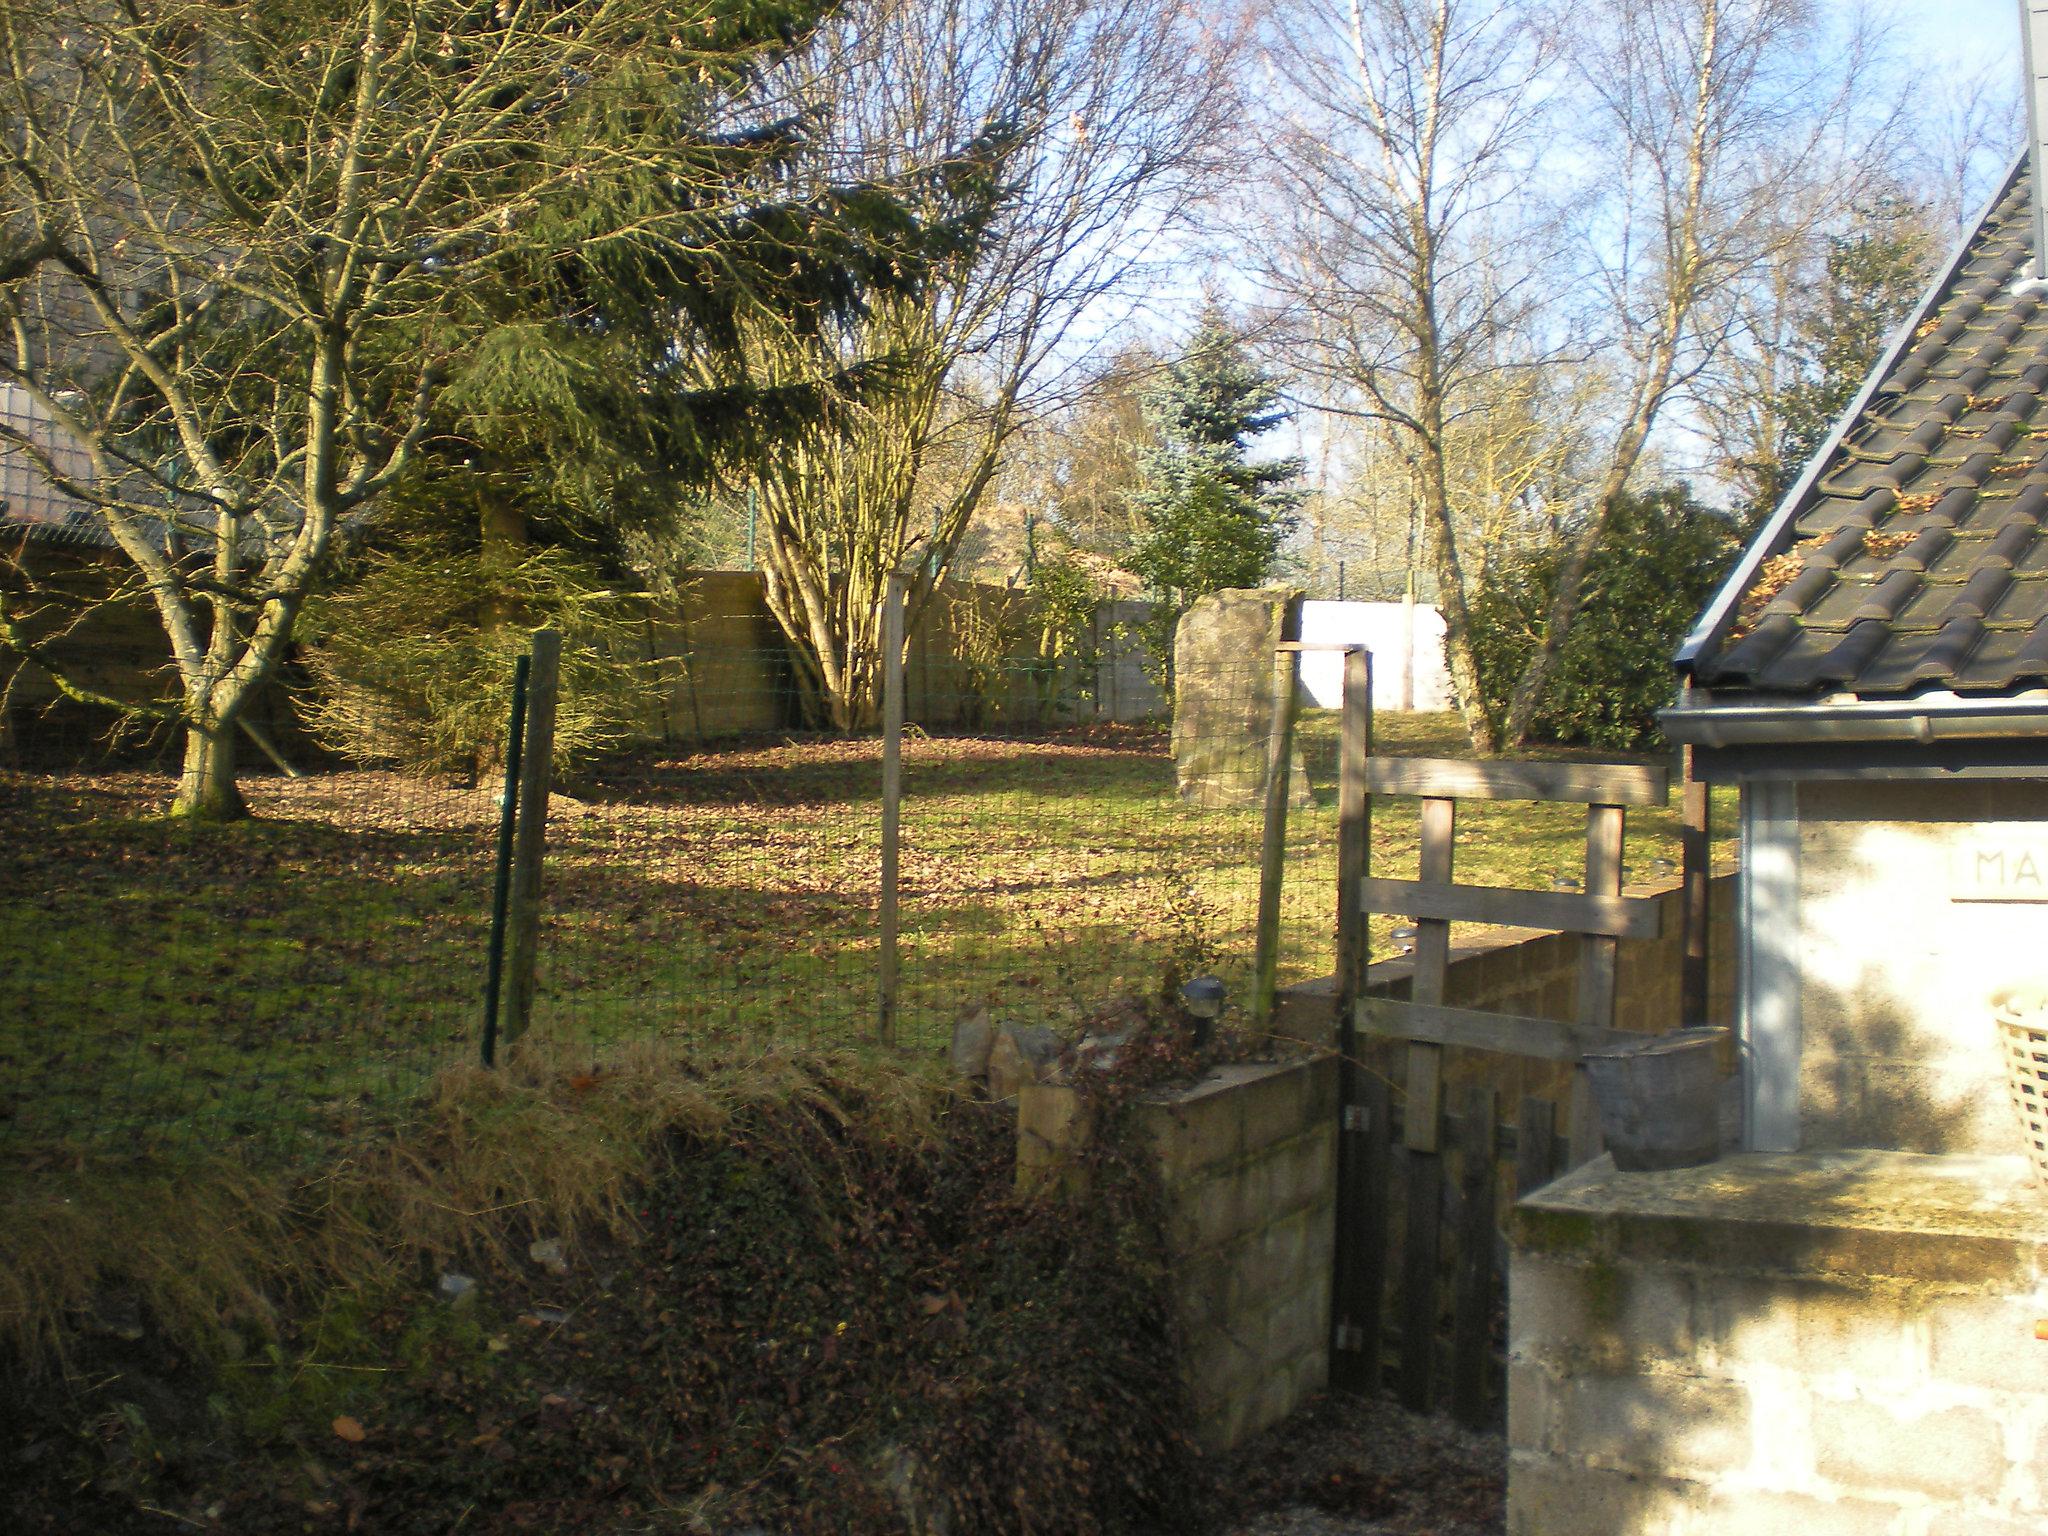
[[[1419,879],[1374,877],[1370,825],[1374,795],[1421,799]],[[1516,1196],[1599,1151],[1597,1116],[1585,1071],[1573,1073],[1571,1147],[1554,1135],[1544,1100],[1522,1102],[1516,1124],[1499,1124],[1487,1085],[1466,1085],[1456,1114],[1444,1104],[1444,1049],[1468,1047],[1577,1065],[1587,1051],[1640,1038],[1614,1028],[1616,946],[1657,938],[1655,899],[1622,895],[1624,815],[1630,805],[1663,805],[1669,774],[1636,764],[1466,762],[1372,756],[1372,659],[1346,657],[1339,778],[1337,1020],[1341,1130],[1337,1167],[1337,1255],[1333,1278],[1331,1384],[1380,1384],[1389,1335],[1399,1354],[1399,1395],[1417,1411],[1438,1399],[1438,1321],[1452,1315],[1450,1403],[1460,1419],[1489,1413],[1489,1360],[1497,1315],[1495,1231],[1503,1180]],[[1585,805],[1581,891],[1507,891],[1454,881],[1458,801],[1563,801]],[[1704,842],[1704,840],[1702,840]],[[1692,846],[1688,844],[1688,862]],[[1413,981],[1405,1001],[1366,995],[1370,918],[1415,922]],[[1577,934],[1579,979],[1573,1020],[1524,1018],[1452,1008],[1444,1001],[1450,924],[1511,924]],[[1405,1094],[1362,1069],[1360,1038],[1405,1040]],[[1503,1165],[1505,1163],[1505,1165]],[[1401,1206],[1397,1319],[1386,1319],[1393,1212]],[[1446,1210],[1448,1206],[1448,1210]],[[1448,1217],[1448,1219],[1446,1219]],[[1450,1237],[1448,1296],[1444,1255]]]

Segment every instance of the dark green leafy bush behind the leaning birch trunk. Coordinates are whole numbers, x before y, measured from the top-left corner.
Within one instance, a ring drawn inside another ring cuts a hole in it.
[[[1677,688],[1671,655],[1737,547],[1735,520],[1696,502],[1688,485],[1624,496],[1593,553],[1536,735],[1620,752],[1657,745],[1657,711]],[[1473,649],[1495,723],[1536,649],[1561,557],[1559,539],[1497,559],[1473,602]]]

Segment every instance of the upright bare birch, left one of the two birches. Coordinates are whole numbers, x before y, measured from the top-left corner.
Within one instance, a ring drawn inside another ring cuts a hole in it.
[[[1333,410],[1391,432],[1458,709],[1491,750],[1456,457],[1460,442],[1503,444],[1481,418],[1554,354],[1538,340],[1546,209],[1530,199],[1548,45],[1493,0],[1300,0],[1274,10],[1268,35],[1284,238],[1260,248],[1278,332],[1298,340],[1292,360],[1321,373]]]

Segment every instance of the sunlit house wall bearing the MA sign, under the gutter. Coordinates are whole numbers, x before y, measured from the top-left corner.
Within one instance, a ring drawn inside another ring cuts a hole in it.
[[[1993,997],[2048,983],[2048,782],[1806,782],[1796,838],[1800,1145],[2019,1151]]]

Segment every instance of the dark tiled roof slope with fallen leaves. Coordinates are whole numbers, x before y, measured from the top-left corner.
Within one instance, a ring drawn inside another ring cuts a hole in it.
[[[2015,170],[1911,340],[1855,408],[1694,680],[1812,696],[2048,686],[2048,297]],[[1757,559],[1757,555],[1765,555]]]

